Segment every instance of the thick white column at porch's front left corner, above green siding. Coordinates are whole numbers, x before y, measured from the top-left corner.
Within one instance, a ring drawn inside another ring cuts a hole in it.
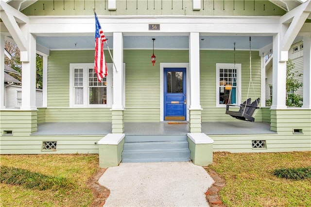
[[[25,55],[29,55],[29,61],[22,62],[22,86],[21,86],[21,107],[22,110],[35,110],[35,55],[36,55],[36,41],[35,36],[28,34],[29,49],[28,52],[24,52]]]

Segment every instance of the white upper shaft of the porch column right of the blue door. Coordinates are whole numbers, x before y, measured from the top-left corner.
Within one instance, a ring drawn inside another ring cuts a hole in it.
[[[190,110],[202,109],[200,105],[200,37],[199,33],[189,36],[190,65]]]

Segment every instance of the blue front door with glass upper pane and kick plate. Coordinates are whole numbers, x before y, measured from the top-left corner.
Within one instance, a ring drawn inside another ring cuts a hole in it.
[[[186,68],[164,68],[164,120],[186,120]]]

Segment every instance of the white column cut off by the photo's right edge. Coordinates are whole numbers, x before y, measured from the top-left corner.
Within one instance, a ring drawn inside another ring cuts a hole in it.
[[[303,36],[303,108],[311,108],[311,34]]]

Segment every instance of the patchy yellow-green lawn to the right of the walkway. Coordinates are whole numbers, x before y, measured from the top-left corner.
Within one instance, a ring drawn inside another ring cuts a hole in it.
[[[311,179],[278,178],[279,168],[311,166],[311,152],[214,153],[208,167],[225,178],[220,191],[227,207],[310,207]]]

